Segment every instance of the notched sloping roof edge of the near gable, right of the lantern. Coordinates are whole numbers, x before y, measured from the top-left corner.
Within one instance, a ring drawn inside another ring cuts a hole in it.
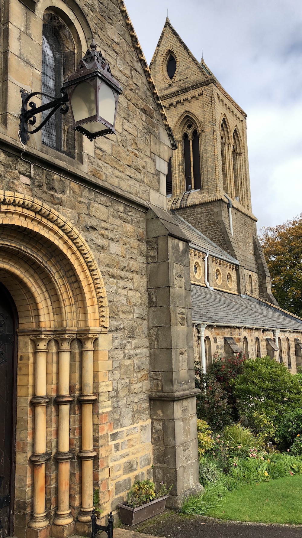
[[[150,73],[150,69],[148,67],[148,63],[146,61],[145,55],[142,52],[142,48],[140,46],[138,36],[136,36],[133,24],[131,22],[131,19],[130,19],[129,15],[128,15],[128,12],[127,12],[127,9],[126,9],[125,3],[124,3],[124,0],[118,0],[118,3],[119,3],[121,14],[124,17],[126,25],[127,25],[127,28],[129,30],[129,33],[130,33],[130,36],[131,36],[132,43],[134,45],[136,54],[138,55],[138,58],[139,58],[139,61],[141,63],[141,66],[143,68],[143,71],[145,72],[146,79],[147,79],[147,81],[149,83],[150,90],[152,91],[155,103],[157,105],[157,108],[160,111],[160,115],[162,117],[163,124],[167,129],[168,136],[169,136],[169,139],[170,139],[170,142],[171,142],[171,146],[172,146],[172,148],[174,150],[176,150],[177,144],[176,144],[176,140],[174,138],[174,134],[172,133],[172,130],[170,128],[170,125],[169,125],[169,122],[168,122],[168,119],[167,119],[167,115],[166,115],[166,111],[163,108],[162,102],[160,100],[160,96],[157,93],[157,90],[155,88],[155,84],[153,82],[153,79],[152,79],[152,76],[151,76],[151,73]]]

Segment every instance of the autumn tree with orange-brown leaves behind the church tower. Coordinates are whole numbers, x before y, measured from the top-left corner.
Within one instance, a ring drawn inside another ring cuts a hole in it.
[[[279,306],[302,317],[302,213],[292,221],[262,228],[260,243]]]

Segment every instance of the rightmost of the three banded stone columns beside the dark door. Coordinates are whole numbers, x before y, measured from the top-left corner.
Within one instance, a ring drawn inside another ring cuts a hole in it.
[[[82,449],[78,457],[82,460],[82,506],[78,521],[91,523],[93,501],[92,464],[97,455],[92,438],[92,404],[97,397],[93,393],[94,342],[97,335],[81,335],[82,342],[82,393],[78,401],[82,404]]]

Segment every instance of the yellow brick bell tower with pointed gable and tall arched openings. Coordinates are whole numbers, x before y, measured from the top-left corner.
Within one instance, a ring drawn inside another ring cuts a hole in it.
[[[238,259],[241,294],[275,304],[251,211],[246,113],[168,17],[150,70],[177,141],[167,207]]]

